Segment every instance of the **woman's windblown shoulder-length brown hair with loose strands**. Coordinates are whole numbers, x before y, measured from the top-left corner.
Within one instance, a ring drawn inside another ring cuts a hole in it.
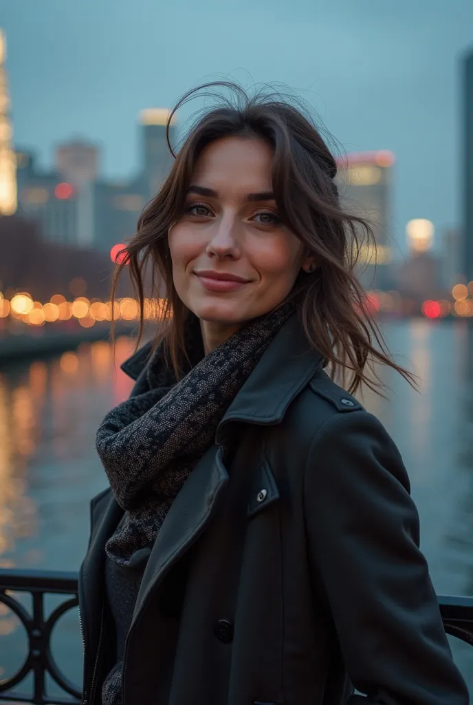
[[[229,88],[232,95],[230,99],[220,98],[220,104],[198,117],[175,154],[169,140],[172,116],[189,98],[209,87]],[[342,209],[334,183],[336,161],[308,111],[298,101],[283,99],[279,94],[258,92],[248,97],[239,85],[213,82],[179,99],[168,118],[166,134],[175,162],[158,194],[142,212],[137,233],[123,251],[113,278],[115,295],[118,276],[125,264],[130,264],[141,313],[137,346],[143,331],[144,278],[150,266],[151,295],[162,295],[163,285],[165,288],[160,317],[168,322],[158,338],[179,375],[181,362],[187,357],[184,321],[189,311],[179,300],[172,281],[169,228],[182,215],[202,150],[222,137],[259,137],[274,150],[272,180],[279,216],[317,264],[313,273],[299,274],[289,295],[298,302],[310,345],[324,356],[332,377],[338,377],[348,391],[357,391],[363,383],[381,393],[384,384],[377,374],[377,363],[396,369],[414,386],[412,373],[399,367],[387,350],[355,274],[362,241],[366,238],[375,249],[372,228],[365,219]]]

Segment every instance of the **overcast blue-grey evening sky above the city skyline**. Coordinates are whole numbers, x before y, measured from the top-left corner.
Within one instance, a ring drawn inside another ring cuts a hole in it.
[[[301,92],[344,149],[396,154],[393,235],[461,220],[461,59],[473,0],[0,0],[15,144],[103,145],[138,167],[137,114],[216,77]],[[187,117],[184,113],[182,117]]]

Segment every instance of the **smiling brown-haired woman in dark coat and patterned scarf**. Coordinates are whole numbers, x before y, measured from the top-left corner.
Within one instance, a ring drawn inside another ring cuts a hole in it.
[[[353,271],[370,228],[310,119],[234,91],[126,251],[165,328],[97,434],[84,704],[465,705],[403,462],[351,396],[369,360],[412,383]]]

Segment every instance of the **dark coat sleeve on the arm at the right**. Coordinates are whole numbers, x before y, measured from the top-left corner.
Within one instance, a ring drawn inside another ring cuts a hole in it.
[[[419,548],[408,475],[374,416],[356,410],[324,424],[310,448],[304,502],[311,568],[348,676],[366,695],[348,702],[467,705]]]

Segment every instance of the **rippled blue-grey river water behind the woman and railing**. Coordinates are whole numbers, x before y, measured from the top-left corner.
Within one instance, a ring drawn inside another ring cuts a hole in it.
[[[473,594],[473,329],[467,321],[392,322],[396,360],[420,378],[420,393],[384,369],[388,400],[362,400],[393,436],[410,474],[421,547],[439,594]],[[89,499],[106,487],[94,437],[132,381],[119,365],[134,341],[119,338],[49,360],[0,369],[0,566],[77,570],[87,547]],[[51,600],[48,609],[55,606]],[[27,603],[25,603],[27,606]],[[59,666],[80,682],[77,612],[53,637]],[[473,648],[450,639],[473,693]],[[20,666],[26,639],[0,605],[0,679]],[[24,689],[23,689],[24,690]],[[58,693],[51,686],[51,694]]]

